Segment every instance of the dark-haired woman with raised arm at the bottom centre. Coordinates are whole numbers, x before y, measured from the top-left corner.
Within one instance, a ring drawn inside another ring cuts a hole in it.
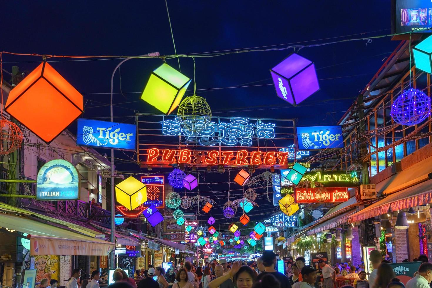
[[[213,279],[209,284],[209,288],[217,288],[223,282],[232,278],[234,287],[236,288],[252,288],[252,285],[257,278],[257,272],[247,265],[241,266],[241,262],[234,262],[231,266],[231,271],[216,279]]]

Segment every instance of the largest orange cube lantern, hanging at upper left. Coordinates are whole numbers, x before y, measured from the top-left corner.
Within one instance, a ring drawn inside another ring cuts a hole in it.
[[[44,61],[10,91],[5,110],[49,143],[83,113],[83,95]]]

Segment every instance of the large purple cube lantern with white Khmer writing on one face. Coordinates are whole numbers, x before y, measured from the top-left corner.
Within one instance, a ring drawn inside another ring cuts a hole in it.
[[[320,89],[314,63],[291,54],[270,69],[276,94],[296,106]]]

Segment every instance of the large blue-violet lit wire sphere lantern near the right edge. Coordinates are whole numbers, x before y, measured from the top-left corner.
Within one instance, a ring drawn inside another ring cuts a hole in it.
[[[391,117],[399,124],[412,126],[421,123],[431,113],[431,98],[418,89],[402,92],[391,105]]]

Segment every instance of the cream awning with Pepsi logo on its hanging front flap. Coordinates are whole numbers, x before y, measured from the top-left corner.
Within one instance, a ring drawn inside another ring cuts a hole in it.
[[[0,214],[0,226],[30,234],[31,255],[108,255],[114,244],[27,217]]]

